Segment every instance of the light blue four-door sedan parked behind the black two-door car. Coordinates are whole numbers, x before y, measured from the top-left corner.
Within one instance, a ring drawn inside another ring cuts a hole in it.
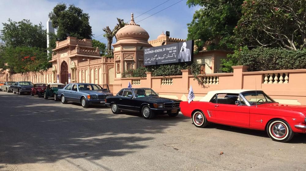
[[[105,104],[107,96],[113,96],[113,94],[89,83],[70,83],[58,90],[58,98],[63,104],[67,104],[68,101],[77,102],[85,108],[91,104]]]

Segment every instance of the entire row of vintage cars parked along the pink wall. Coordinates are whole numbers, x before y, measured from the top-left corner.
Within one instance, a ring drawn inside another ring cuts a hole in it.
[[[192,119],[196,127],[204,128],[209,123],[247,129],[265,130],[274,141],[287,142],[295,133],[306,133],[306,106],[278,104],[263,91],[219,90],[210,91],[200,101],[186,101],[160,97],[150,88],[124,88],[115,96],[108,85],[89,83],[36,83],[5,82],[3,91],[29,93],[54,98],[63,104],[68,101],[105,104],[114,114],[121,111],[140,112],[145,119],[155,115],[175,117],[179,111]]]

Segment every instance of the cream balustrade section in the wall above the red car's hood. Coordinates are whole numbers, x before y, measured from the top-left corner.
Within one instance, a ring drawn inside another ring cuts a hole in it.
[[[278,83],[289,83],[289,73],[267,73],[264,74],[263,84],[278,84]]]

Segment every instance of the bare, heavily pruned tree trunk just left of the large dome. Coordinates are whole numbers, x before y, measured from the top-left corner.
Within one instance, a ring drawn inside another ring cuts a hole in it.
[[[111,56],[113,56],[113,52],[112,52],[112,42],[113,42],[113,38],[116,35],[116,33],[125,26],[125,22],[123,20],[121,20],[120,18],[117,18],[118,20],[118,24],[114,27],[113,30],[110,30],[110,27],[106,26],[103,28],[103,31],[105,32],[105,34],[103,35],[105,38],[107,38],[107,53]],[[116,38],[117,40],[117,38]]]

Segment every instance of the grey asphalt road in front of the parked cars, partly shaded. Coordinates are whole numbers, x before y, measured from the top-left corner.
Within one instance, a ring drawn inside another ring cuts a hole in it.
[[[220,152],[223,152],[220,155]],[[266,132],[183,115],[145,120],[51,98],[0,92],[0,171],[306,170],[306,135],[289,143]]]

